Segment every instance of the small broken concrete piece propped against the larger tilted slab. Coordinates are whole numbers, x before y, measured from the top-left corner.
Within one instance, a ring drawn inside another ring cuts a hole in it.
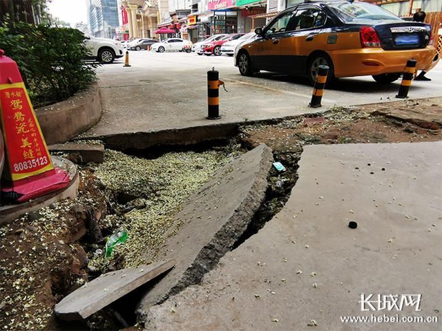
[[[170,270],[175,263],[174,259],[170,259],[102,274],[57,303],[55,314],[66,321],[86,319],[106,305]]]

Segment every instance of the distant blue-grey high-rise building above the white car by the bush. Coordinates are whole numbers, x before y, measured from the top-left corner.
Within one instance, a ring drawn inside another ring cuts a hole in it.
[[[90,33],[100,38],[115,38],[119,27],[117,0],[88,0]]]

